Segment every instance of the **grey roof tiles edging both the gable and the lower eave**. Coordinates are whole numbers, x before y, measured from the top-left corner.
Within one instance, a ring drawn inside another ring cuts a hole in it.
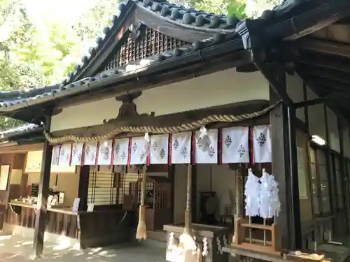
[[[308,0],[304,0],[308,1]],[[285,0],[281,6],[274,10],[269,10],[267,15],[262,15],[262,19],[268,19],[274,16],[274,13],[281,13],[283,10],[288,10],[288,6],[295,6],[295,3],[301,3],[302,0]],[[121,22],[127,15],[128,10],[132,6],[138,5],[140,8],[147,8],[153,13],[165,17],[167,20],[172,22],[181,23],[188,27],[196,29],[212,30],[214,37],[205,41],[197,41],[192,45],[186,45],[182,48],[176,48],[174,50],[165,51],[161,54],[153,57],[148,57],[141,61],[132,62],[127,66],[116,68],[113,71],[104,72],[94,77],[83,78],[77,80],[78,75],[81,71],[97,56],[100,50],[104,47],[106,41],[116,31],[117,27],[120,27]],[[156,62],[165,61],[176,57],[184,57],[185,54],[195,52],[210,46],[216,45],[223,41],[230,41],[234,38],[238,38],[235,33],[235,27],[239,24],[237,17],[227,17],[225,15],[216,15],[214,13],[207,13],[202,10],[195,10],[193,8],[185,8],[183,6],[176,6],[173,3],[167,1],[153,1],[153,0],[127,0],[124,3],[120,3],[118,6],[119,14],[113,17],[113,24],[111,27],[104,29],[104,34],[96,39],[97,45],[90,48],[90,55],[84,56],[81,59],[81,63],[75,66],[75,71],[70,72],[64,81],[59,85],[52,85],[48,87],[27,89],[23,91],[15,92],[0,92],[0,112],[12,111],[17,108],[24,106],[34,105],[36,103],[43,103],[51,101],[71,94],[77,94],[85,90],[93,89],[101,86],[98,84],[99,80],[109,78],[111,76],[130,75],[137,73],[135,68],[138,70],[142,69],[142,66],[155,64]],[[124,17],[123,17],[124,16]]]

